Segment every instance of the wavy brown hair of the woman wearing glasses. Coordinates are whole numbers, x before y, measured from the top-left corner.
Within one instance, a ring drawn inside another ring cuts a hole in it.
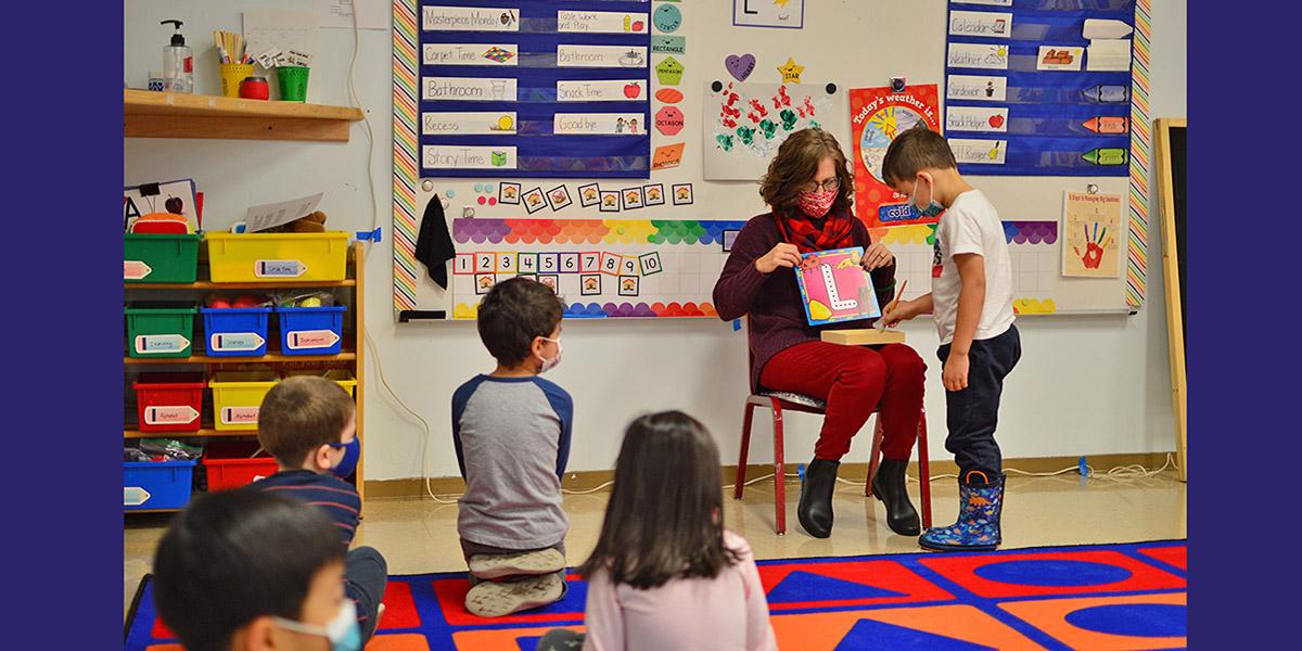
[[[776,211],[794,210],[799,202],[801,186],[814,180],[825,158],[832,159],[836,180],[840,182],[832,208],[849,208],[854,202],[850,164],[836,137],[814,126],[790,134],[777,147],[777,155],[768,163],[768,173],[759,182],[759,195]]]

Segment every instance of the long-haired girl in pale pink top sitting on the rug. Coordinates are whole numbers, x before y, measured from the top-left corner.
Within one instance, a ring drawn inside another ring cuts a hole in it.
[[[750,546],[723,526],[719,448],[681,411],[629,426],[587,578],[587,634],[539,651],[776,650]]]

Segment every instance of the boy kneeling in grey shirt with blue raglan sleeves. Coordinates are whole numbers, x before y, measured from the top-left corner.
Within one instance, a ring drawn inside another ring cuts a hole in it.
[[[452,396],[452,440],[466,480],[457,533],[470,566],[466,609],[500,617],[565,594],[561,475],[574,404],[538,378],[561,361],[556,293],[499,283],[479,305],[479,339],[497,368]]]

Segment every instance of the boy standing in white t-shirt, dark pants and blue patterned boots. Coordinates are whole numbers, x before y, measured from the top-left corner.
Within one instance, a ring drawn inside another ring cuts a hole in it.
[[[904,301],[888,324],[932,312],[940,333],[949,436],[945,449],[958,465],[958,521],[923,531],[918,543],[934,551],[988,551],[1001,542],[1004,460],[995,443],[1004,378],[1022,357],[1013,326],[1013,271],[999,212],[963,181],[949,143],[939,133],[909,129],[887,148],[881,176],[910,197],[936,224],[931,293]],[[926,201],[922,201],[926,198]]]

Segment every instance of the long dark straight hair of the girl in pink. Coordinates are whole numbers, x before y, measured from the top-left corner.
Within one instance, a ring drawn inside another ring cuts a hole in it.
[[[672,578],[712,578],[738,556],[724,546],[719,448],[682,411],[633,421],[592,555],[579,568],[646,590]]]

